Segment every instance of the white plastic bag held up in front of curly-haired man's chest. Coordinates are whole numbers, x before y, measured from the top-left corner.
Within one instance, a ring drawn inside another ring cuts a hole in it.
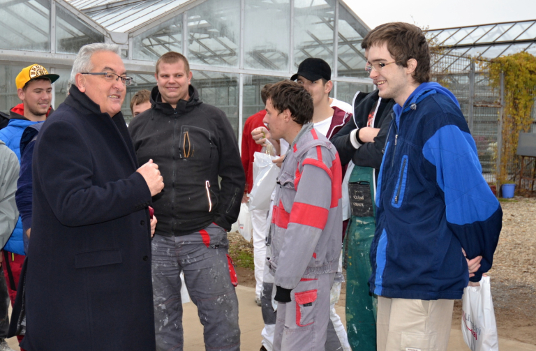
[[[279,167],[271,162],[276,156],[255,152],[253,158],[253,188],[249,194],[249,210],[267,210],[270,208],[271,193],[276,187]]]

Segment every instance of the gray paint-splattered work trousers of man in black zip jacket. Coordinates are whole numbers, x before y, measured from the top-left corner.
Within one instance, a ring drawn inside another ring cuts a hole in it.
[[[227,233],[211,224],[181,237],[152,241],[154,322],[157,351],[183,350],[181,271],[198,306],[206,350],[240,350],[238,299],[231,283]],[[233,268],[234,271],[234,268]]]

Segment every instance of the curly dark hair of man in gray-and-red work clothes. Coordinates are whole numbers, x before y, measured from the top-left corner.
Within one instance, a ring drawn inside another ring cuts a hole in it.
[[[304,87],[292,80],[282,80],[269,87],[267,99],[271,100],[271,104],[277,112],[281,113],[289,110],[292,120],[300,126],[311,122],[313,119],[313,98]]]

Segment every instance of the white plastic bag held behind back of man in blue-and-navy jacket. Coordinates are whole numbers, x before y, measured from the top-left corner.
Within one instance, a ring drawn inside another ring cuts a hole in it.
[[[461,332],[471,351],[499,350],[489,276],[482,277],[480,286],[463,289]]]

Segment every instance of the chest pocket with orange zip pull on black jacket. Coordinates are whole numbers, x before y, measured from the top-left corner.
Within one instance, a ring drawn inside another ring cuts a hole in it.
[[[196,126],[181,126],[179,150],[179,158],[184,160],[209,160],[216,156],[210,131]]]

